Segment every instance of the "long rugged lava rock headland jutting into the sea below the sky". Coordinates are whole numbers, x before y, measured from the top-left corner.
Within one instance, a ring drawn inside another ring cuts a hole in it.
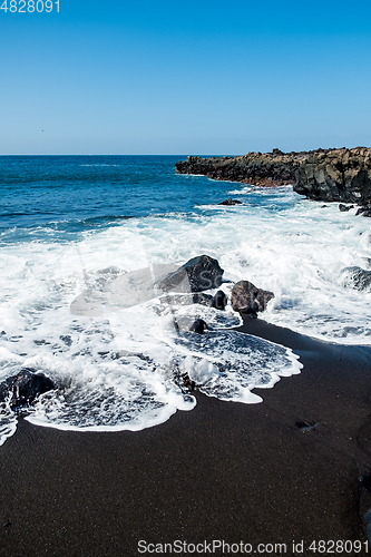
[[[273,149],[237,157],[189,156],[176,163],[176,172],[258,187],[292,185],[310,199],[355,203],[363,207],[364,216],[371,214],[371,148],[368,147],[300,153]]]

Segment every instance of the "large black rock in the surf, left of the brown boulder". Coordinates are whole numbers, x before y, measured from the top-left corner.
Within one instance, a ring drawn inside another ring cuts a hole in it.
[[[224,270],[216,260],[208,255],[199,255],[168,274],[156,286],[163,292],[202,292],[219,287],[223,273]]]

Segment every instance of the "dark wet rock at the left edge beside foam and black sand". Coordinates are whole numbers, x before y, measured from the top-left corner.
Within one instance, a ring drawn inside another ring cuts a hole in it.
[[[32,404],[40,394],[53,389],[56,384],[51,379],[26,368],[0,383],[0,401],[3,402],[11,395],[10,408],[19,410]]]

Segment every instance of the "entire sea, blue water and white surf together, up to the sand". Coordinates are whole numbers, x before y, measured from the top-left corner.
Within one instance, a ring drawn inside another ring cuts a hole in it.
[[[371,287],[349,271],[371,268],[370,221],[291,186],[178,175],[185,158],[0,157],[0,381],[30,368],[57,385],[28,409],[32,423],[140,430],[195,407],[185,375],[207,395],[255,403],[262,389],[300,373],[287,348],[232,331],[241,319],[230,304],[106,303],[138,270],[196,255],[219,262],[228,297],[240,280],[272,291],[260,319],[325,342],[371,344]],[[218,205],[227,197],[242,204]],[[74,311],[81,296],[90,314]],[[202,317],[209,331],[179,332],[179,316]],[[0,443],[16,428],[8,400]]]

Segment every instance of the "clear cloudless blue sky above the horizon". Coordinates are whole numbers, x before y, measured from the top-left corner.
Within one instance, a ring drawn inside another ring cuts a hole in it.
[[[0,10],[0,154],[371,146],[370,0],[59,1]]]

